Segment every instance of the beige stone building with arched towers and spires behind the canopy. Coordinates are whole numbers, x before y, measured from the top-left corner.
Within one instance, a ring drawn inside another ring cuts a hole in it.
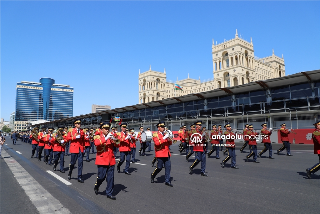
[[[198,93],[217,88],[226,88],[285,76],[284,58],[272,55],[264,58],[254,56],[253,43],[239,38],[237,30],[234,39],[214,45],[212,39],[213,78],[209,80],[183,79],[171,81],[164,72],[151,70],[140,73],[139,103],[147,103],[190,93]],[[183,91],[175,90],[175,83]]]

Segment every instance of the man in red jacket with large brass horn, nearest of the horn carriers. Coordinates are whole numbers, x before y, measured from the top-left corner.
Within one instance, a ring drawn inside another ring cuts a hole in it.
[[[58,161],[60,159],[60,172],[64,173],[64,154],[66,150],[66,135],[63,134],[63,127],[59,127],[59,132],[61,133],[63,140],[58,141],[56,139],[58,134],[53,134],[51,139],[51,144],[53,145],[53,155],[54,155],[54,162],[53,162],[53,171],[56,171]],[[64,144],[64,145],[63,145]]]

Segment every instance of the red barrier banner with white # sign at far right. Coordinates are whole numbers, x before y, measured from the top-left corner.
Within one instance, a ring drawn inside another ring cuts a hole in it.
[[[313,144],[312,133],[314,132],[314,130],[315,129],[291,129],[292,132],[295,132],[297,134],[288,134],[289,142],[295,144]],[[280,140],[280,131],[278,132],[278,139],[278,142],[282,143],[282,141]]]

